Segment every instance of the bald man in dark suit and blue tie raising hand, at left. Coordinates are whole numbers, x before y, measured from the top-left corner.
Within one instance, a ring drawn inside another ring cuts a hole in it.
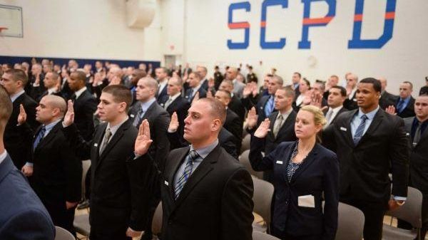
[[[33,139],[34,136],[33,154],[22,167],[22,172],[27,177],[31,176],[31,187],[48,210],[55,226],[61,226],[76,236],[73,220],[74,209],[81,199],[82,168],[61,131],[66,108],[63,98],[46,95],[36,108],[36,120],[42,124],[36,135],[25,122],[24,108],[21,108],[18,122],[24,128],[22,132],[26,137]]]

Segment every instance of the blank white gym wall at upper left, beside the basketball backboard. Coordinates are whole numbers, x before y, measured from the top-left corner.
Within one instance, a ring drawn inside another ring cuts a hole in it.
[[[125,0],[0,0],[23,8],[24,38],[0,37],[2,56],[161,61],[161,1],[144,29],[126,25]]]

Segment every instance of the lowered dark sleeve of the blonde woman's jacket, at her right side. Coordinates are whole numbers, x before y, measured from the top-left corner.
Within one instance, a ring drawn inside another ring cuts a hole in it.
[[[337,207],[339,204],[339,162],[336,155],[325,160],[324,178],[324,234],[323,240],[335,239],[337,230]]]

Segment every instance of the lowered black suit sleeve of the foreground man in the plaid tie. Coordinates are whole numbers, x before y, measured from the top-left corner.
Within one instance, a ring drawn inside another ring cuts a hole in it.
[[[223,190],[221,204],[220,239],[252,239],[253,179],[247,170],[237,169],[230,176]]]

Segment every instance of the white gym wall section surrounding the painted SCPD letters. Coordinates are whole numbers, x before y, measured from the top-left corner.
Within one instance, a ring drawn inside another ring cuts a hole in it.
[[[299,49],[302,37],[303,4],[289,0],[288,7],[272,6],[267,10],[267,40],[286,38],[282,49],[260,48],[260,19],[262,2],[250,0],[251,11],[234,11],[233,21],[250,23],[250,44],[244,50],[230,50],[228,39],[243,41],[243,30],[228,28],[228,7],[243,1],[185,0],[184,61],[204,64],[210,69],[250,63],[259,78],[271,67],[290,83],[294,71],[310,80],[324,79],[337,74],[357,73],[360,78],[384,76],[392,93],[398,93],[399,83],[410,80],[415,91],[424,85],[428,75],[428,1],[397,0],[392,39],[380,49],[348,49],[352,38],[355,0],[338,0],[335,18],[324,27],[309,30],[310,49]],[[365,1],[362,39],[378,38],[383,31],[386,0]],[[311,17],[327,14],[327,4],[312,3]],[[260,66],[260,61],[263,64]],[[212,73],[212,72],[211,72]],[[416,95],[417,93],[414,93]]]

